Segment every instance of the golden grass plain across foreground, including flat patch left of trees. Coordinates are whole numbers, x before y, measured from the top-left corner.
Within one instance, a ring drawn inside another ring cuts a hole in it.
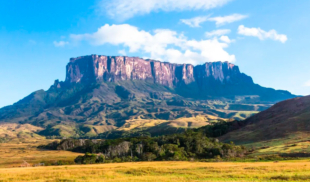
[[[2,143],[0,181],[309,181],[310,160],[269,162],[135,162],[33,167],[72,160],[69,151],[37,149],[50,141]],[[21,167],[27,161],[31,167]]]

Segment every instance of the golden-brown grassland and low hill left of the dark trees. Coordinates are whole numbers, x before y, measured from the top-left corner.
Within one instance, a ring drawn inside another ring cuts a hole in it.
[[[23,161],[30,165],[41,161],[73,161],[74,158],[81,155],[68,151],[38,149],[39,145],[46,145],[54,141],[36,134],[40,130],[42,128],[30,124],[0,124],[0,138],[2,142],[6,142],[0,143],[0,167],[17,167]]]

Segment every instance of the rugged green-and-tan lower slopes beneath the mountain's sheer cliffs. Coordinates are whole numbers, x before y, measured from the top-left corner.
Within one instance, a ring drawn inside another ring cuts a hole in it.
[[[272,105],[259,96],[187,98],[180,90],[148,81],[52,86],[0,109],[1,123],[42,127],[40,135],[108,136],[145,132],[160,135],[208,125],[219,119],[245,119]]]

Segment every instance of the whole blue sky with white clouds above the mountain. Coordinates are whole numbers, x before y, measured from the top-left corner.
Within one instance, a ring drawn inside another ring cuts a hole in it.
[[[0,1],[0,107],[65,79],[69,58],[230,61],[262,86],[310,94],[308,0]]]

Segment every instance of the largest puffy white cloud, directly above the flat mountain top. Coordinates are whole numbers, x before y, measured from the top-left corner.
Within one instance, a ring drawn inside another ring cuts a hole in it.
[[[219,42],[216,37],[199,41],[189,40],[183,34],[168,29],[147,32],[128,24],[106,24],[94,33],[72,34],[70,38],[72,41],[86,41],[94,46],[123,46],[131,53],[142,53],[147,55],[145,57],[174,63],[235,61],[235,56],[224,50],[229,43],[223,40]]]

